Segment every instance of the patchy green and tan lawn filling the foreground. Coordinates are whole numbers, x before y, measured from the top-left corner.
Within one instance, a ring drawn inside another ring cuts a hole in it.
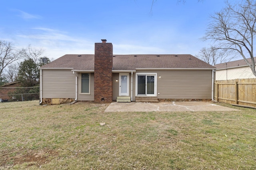
[[[111,113],[91,104],[0,103],[0,170],[256,169],[255,109]]]

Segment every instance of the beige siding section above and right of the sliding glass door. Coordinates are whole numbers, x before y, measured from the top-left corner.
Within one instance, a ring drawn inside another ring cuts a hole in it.
[[[157,73],[158,99],[212,98],[212,70],[139,70],[137,73]]]

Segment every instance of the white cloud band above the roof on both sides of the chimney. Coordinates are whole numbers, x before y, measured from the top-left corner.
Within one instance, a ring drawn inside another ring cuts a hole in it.
[[[156,33],[157,34],[157,33]],[[113,53],[118,54],[192,54],[195,55],[198,49],[198,42],[188,39],[186,43],[178,41],[170,41],[173,33],[164,38],[162,34],[152,35],[155,38],[145,39],[116,39],[113,43]],[[36,48],[45,49],[45,55],[52,59],[57,59],[65,54],[94,54],[94,41],[87,37],[78,37],[78,35],[70,35],[69,32],[60,31],[58,29],[50,29],[47,27],[34,27],[27,33],[17,35],[20,46],[31,44]],[[174,35],[173,35],[174,36]],[[113,37],[112,37],[113,38]],[[184,38],[184,37],[182,37]],[[127,38],[124,38],[127,39]],[[114,40],[114,39],[113,39]],[[119,40],[119,42],[118,42]],[[149,42],[149,43],[148,43]],[[192,50],[191,50],[192,49]]]

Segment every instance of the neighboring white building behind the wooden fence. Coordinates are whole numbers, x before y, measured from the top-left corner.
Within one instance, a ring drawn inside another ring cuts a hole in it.
[[[254,57],[254,61],[256,61],[256,57]],[[244,59],[216,64],[215,67],[217,68],[215,80],[256,78]]]

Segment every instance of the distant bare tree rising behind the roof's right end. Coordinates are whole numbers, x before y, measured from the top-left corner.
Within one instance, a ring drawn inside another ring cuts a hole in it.
[[[215,65],[219,63],[229,62],[236,58],[236,54],[230,50],[218,49],[216,47],[202,48],[196,57],[208,64]]]

